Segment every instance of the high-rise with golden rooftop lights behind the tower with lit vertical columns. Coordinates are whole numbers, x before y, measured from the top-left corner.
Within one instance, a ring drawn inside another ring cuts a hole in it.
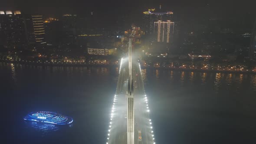
[[[158,20],[167,21],[173,20],[173,12],[156,12],[156,10],[148,9],[148,11],[143,12],[143,30],[145,34],[151,34],[154,32],[154,22]]]

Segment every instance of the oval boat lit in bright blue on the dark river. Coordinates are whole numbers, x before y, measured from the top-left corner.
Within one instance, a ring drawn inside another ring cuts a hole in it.
[[[38,111],[38,112],[31,112],[26,115],[24,120],[27,121],[39,121],[45,122],[49,124],[71,124],[73,119],[64,115],[57,114],[56,112],[50,111]]]

